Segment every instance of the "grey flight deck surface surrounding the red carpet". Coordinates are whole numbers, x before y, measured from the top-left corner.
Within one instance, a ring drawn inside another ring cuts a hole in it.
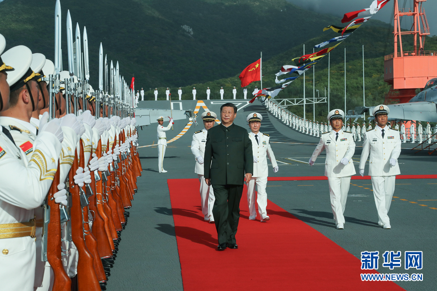
[[[203,100],[209,110],[218,113],[226,100]],[[211,104],[211,101],[214,104]],[[274,174],[269,166],[269,177],[302,177],[324,175],[324,152],[314,166],[308,160],[319,142],[287,127],[265,106],[256,100],[229,100],[240,103],[235,124],[248,128],[246,116],[257,112],[263,116],[261,132],[270,135],[271,147],[279,164],[279,172]],[[175,101],[180,102],[180,101]],[[221,103],[221,104],[218,104]],[[195,109],[197,101],[183,100],[183,110]],[[140,101],[140,108],[168,109],[169,101]],[[179,109],[179,105],[175,106]],[[139,155],[143,167],[142,177],[138,178],[138,193],[134,195],[133,207],[126,229],[123,230],[119,244],[118,257],[107,290],[183,290],[181,265],[178,256],[174,222],[170,205],[167,179],[197,178],[194,173],[194,157],[190,151],[192,135],[203,129],[200,114],[199,125],[191,128],[178,140],[169,143],[164,159],[168,173],[158,173],[158,150],[156,146],[141,147]],[[168,120],[165,119],[164,125]],[[167,140],[178,135],[188,122],[178,120],[174,130],[167,131]],[[217,125],[216,125],[217,126]],[[142,127],[138,138],[140,146],[156,145],[157,123]],[[358,173],[362,142],[356,142],[353,161]],[[399,158],[401,175],[437,174],[437,155],[429,156],[427,151],[414,154],[413,146],[402,144]],[[365,174],[368,174],[366,166]],[[357,174],[358,175],[358,174]],[[423,274],[421,282],[396,282],[408,291],[436,290],[437,286],[437,179],[397,179],[393,202],[389,211],[392,229],[386,230],[377,225],[378,217],[370,191],[371,181],[351,180],[345,210],[345,229],[337,230],[330,207],[328,181],[269,181],[267,194],[270,201],[301,219],[308,226],[336,242],[353,256],[360,258],[363,251],[379,251],[380,273]],[[272,187],[269,187],[272,186]],[[273,187],[275,186],[275,187]],[[193,189],[198,194],[199,189]],[[198,194],[199,195],[199,194]],[[243,198],[244,198],[243,194]],[[403,200],[402,200],[403,199]],[[199,195],[200,204],[200,195]],[[269,212],[269,206],[268,212]],[[434,209],[432,209],[434,208]],[[280,215],[280,213],[277,213]],[[274,219],[274,215],[272,217]],[[269,223],[269,222],[268,222]],[[214,226],[211,226],[214,228]],[[236,235],[238,241],[238,233]],[[262,242],[259,242],[260,239]],[[262,247],[274,247],[269,238],[253,238],[253,243]],[[263,246],[264,245],[264,246]],[[293,242],[290,241],[290,247]],[[241,246],[244,247],[244,246]],[[401,251],[402,266],[390,270],[383,267],[382,254],[385,251]],[[423,269],[404,269],[405,251],[423,251]],[[211,266],[205,258],[199,262],[205,268],[204,275],[211,275]],[[357,265],[359,270],[360,266]],[[362,273],[367,273],[363,270]],[[199,274],[201,275],[201,274]],[[335,280],[341,280],[341,273]],[[199,287],[201,289],[201,286]]]

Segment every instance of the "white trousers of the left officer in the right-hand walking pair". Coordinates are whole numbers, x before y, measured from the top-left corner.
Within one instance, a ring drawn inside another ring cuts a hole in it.
[[[351,176],[349,177],[328,177],[329,195],[331,197],[332,214],[336,224],[344,224],[344,210],[346,209],[346,200],[348,199],[349,186],[351,185]]]

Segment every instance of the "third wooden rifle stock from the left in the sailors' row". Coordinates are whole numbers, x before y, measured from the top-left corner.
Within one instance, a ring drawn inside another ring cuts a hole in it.
[[[82,140],[80,142],[80,148],[81,148],[81,153],[80,153],[79,166],[84,168],[85,167],[85,156],[84,156],[84,143],[82,142]],[[84,190],[84,192],[86,191],[85,185],[84,185],[82,190]],[[89,203],[89,200],[88,200],[88,203]],[[97,279],[99,280],[99,282],[105,282],[106,281],[106,274],[105,274],[105,270],[103,269],[103,264],[102,264],[101,259],[100,259],[99,251],[97,250],[97,240],[94,237],[93,233],[91,232],[91,227],[89,224],[88,206],[85,206],[82,209],[82,213],[84,216],[85,244],[86,244],[86,247],[88,248],[89,252],[93,256],[93,269],[90,268],[89,272],[96,272]]]

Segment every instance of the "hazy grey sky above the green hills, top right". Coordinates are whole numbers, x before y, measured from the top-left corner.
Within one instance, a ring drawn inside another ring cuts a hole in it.
[[[305,9],[319,13],[329,13],[343,18],[348,12],[368,8],[373,0],[286,0]],[[405,6],[403,3],[405,2]],[[399,0],[399,8],[412,8],[413,0]],[[428,0],[423,2],[422,8],[425,10],[431,35],[437,34],[437,0]],[[394,0],[391,0],[383,7],[372,19],[378,19],[384,22],[393,23],[393,6]],[[412,16],[403,16],[402,28],[410,29],[413,22]],[[426,44],[425,44],[426,49]]]

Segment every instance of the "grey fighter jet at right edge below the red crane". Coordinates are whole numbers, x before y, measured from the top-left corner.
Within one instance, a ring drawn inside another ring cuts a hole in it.
[[[411,98],[407,103],[390,104],[390,120],[420,120],[437,122],[437,78],[428,81],[418,95]],[[355,107],[348,111],[351,114],[363,114],[369,112],[373,106]]]

